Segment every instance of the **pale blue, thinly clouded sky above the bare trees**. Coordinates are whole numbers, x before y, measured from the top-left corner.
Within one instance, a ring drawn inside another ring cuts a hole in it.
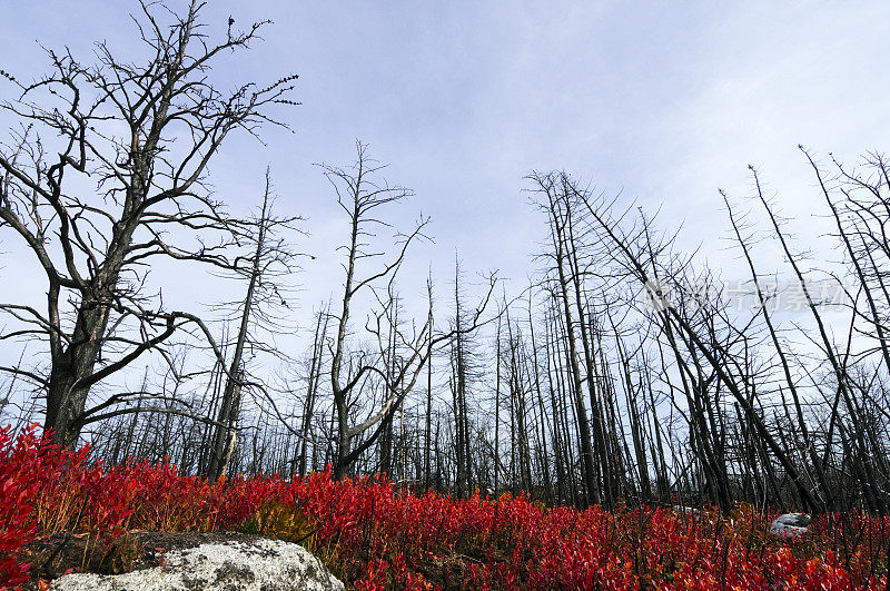
[[[135,9],[0,0],[0,69],[46,71],[38,41],[85,60],[100,39],[137,56]],[[531,170],[565,169],[623,205],[660,209],[661,227],[682,225],[681,244],[732,274],[718,188],[750,196],[753,164],[801,242],[830,252],[798,144],[821,161],[856,162],[890,137],[888,2],[210,0],[204,14],[210,33],[229,16],[274,21],[249,52],[224,57],[220,87],[299,75],[301,106],[278,112],[293,131],[269,128],[264,144],[233,137],[210,178],[218,198],[246,210],[270,167],[279,211],[305,218],[298,248],[316,257],[297,278],[304,312],[337,292],[335,248],[348,230],[314,165],[348,165],[356,140],[415,193],[389,219],[406,228],[419,211],[432,217],[435,243],[412,252],[400,280],[419,297],[427,269],[445,284],[455,256],[468,276],[496,268],[515,286],[526,280],[546,229],[528,204]],[[0,82],[0,99],[13,98]],[[0,115],[0,132],[12,125]],[[6,232],[0,252],[0,274],[22,277],[2,282],[0,299],[39,297],[33,262]],[[220,295],[170,273],[182,306]]]

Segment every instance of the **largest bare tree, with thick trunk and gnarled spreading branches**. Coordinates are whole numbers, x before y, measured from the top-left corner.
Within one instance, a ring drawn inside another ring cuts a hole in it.
[[[21,124],[0,150],[0,227],[31,250],[48,290],[43,311],[0,305],[20,323],[3,337],[46,342],[49,368],[3,370],[42,391],[44,424],[67,445],[97,420],[87,408],[93,385],[146,352],[162,353],[180,328],[209,337],[197,316],[168,311],[149,293],[148,265],[165,257],[237,269],[245,262],[231,247],[251,227],[210,196],[207,166],[230,132],[255,135],[275,122],[269,107],[294,104],[296,76],[230,92],[211,85],[215,60],[247,49],[264,22],[238,31],[230,21],[214,42],[199,20],[202,6],[192,1],[178,14],[141,1],[139,62],[100,42],[95,63],[49,50],[48,76],[23,83],[4,73],[20,96],[2,108]]]

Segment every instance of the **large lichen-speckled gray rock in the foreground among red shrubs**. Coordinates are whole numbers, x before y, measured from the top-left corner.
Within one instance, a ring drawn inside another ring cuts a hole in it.
[[[117,575],[75,573],[50,590],[340,590],[343,583],[305,548],[280,540],[229,540],[161,554],[164,567]]]

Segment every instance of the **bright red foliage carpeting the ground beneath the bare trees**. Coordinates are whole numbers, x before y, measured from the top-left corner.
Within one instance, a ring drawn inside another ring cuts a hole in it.
[[[848,589],[886,585],[890,523],[818,515],[801,540],[765,532],[774,514],[663,508],[547,510],[525,496],[459,501],[396,492],[385,479],[334,482],[330,471],[219,480],[164,464],[107,469],[88,450],[0,431],[0,587],[21,583],[23,544],[89,533],[97,546],[127,530],[237,529],[264,503],[295,508],[303,540],[356,589]],[[725,585],[725,587],[723,587]]]

